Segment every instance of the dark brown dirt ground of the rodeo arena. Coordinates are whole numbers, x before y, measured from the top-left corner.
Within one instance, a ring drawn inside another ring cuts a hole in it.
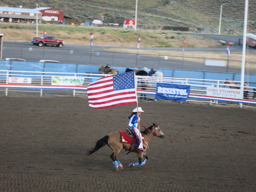
[[[134,153],[86,150],[124,130],[135,105],[92,109],[87,98],[0,97],[1,192],[254,192],[255,109],[139,101],[141,123],[157,123],[143,167]],[[144,129],[143,129],[144,130]]]

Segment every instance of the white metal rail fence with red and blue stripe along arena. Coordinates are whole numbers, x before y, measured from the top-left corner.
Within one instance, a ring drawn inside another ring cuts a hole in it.
[[[68,75],[68,76],[67,76]],[[81,85],[69,86],[69,85],[56,85],[52,82],[52,77],[67,77],[69,79],[82,77],[83,82]],[[35,93],[41,97],[47,90],[58,94],[60,90],[69,90],[69,94],[73,97],[87,97],[87,85],[95,79],[102,78],[103,74],[96,73],[53,73],[53,72],[35,72],[35,71],[7,71],[0,70],[0,96],[8,96],[10,93],[18,94],[19,92]],[[143,78],[144,82],[147,82],[146,90],[141,83]],[[31,81],[31,82],[30,82]],[[208,79],[193,79],[193,78],[172,78],[172,77],[149,77],[149,76],[136,76],[137,82],[137,96],[138,99],[146,98],[147,100],[154,100],[156,93],[157,82],[162,83],[174,83],[190,85],[190,94],[187,101],[204,102],[210,105],[215,104],[227,104],[246,107],[256,107],[256,88],[249,87],[248,98],[232,98],[223,96],[207,95],[207,89],[222,88],[226,86],[223,81],[220,80],[208,80]],[[237,82],[239,83],[239,82]],[[234,85],[238,89],[243,89],[239,84]],[[227,89],[228,87],[226,87]]]

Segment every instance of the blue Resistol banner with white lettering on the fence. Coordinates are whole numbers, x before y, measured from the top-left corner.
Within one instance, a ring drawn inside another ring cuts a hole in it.
[[[190,85],[157,83],[156,99],[186,101],[190,92]]]

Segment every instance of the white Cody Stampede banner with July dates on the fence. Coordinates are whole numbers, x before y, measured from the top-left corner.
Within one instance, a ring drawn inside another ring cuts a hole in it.
[[[243,92],[240,89],[223,89],[219,87],[209,87],[207,88],[206,95],[241,99],[243,97]]]

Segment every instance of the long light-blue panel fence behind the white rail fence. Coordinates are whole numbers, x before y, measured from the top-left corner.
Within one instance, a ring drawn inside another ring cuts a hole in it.
[[[112,68],[124,73],[126,68],[134,69],[134,67],[120,67],[111,66]],[[45,68],[45,69],[44,69]],[[143,69],[143,68],[138,68]],[[17,71],[40,71],[40,72],[53,72],[54,75],[64,76],[65,73],[101,73],[99,65],[82,65],[82,64],[67,64],[67,63],[42,63],[31,61],[6,61],[0,60],[0,70],[17,70]],[[163,72],[164,77],[178,77],[178,78],[193,78],[193,79],[212,79],[212,80],[241,80],[241,74],[224,73],[224,72],[206,72],[206,71],[189,71],[189,70],[169,70],[169,69],[156,69]],[[64,74],[58,74],[64,72]],[[24,72],[12,72],[12,74],[25,74]],[[38,75],[38,73],[35,73]],[[32,74],[34,75],[34,74]],[[69,75],[69,74],[67,74]],[[82,75],[81,75],[82,76]],[[86,75],[84,75],[86,76]],[[97,78],[99,76],[95,76]],[[3,79],[3,78],[2,78]],[[251,87],[256,87],[256,75],[245,75],[244,82],[250,82]],[[212,81],[212,83],[216,83]],[[202,83],[202,85],[204,85]]]

